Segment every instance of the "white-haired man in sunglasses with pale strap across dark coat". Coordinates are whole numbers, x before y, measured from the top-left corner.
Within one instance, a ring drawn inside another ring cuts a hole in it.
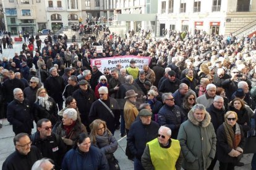
[[[92,103],[89,113],[89,120],[92,123],[95,119],[106,121],[106,126],[114,135],[116,127],[119,126],[120,110],[116,99],[108,96],[108,87],[101,86],[98,89],[100,99]]]

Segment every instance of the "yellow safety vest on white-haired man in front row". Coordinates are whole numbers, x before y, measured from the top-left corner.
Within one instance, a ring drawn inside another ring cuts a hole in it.
[[[171,147],[161,148],[158,139],[147,143],[155,170],[175,170],[175,164],[181,152],[179,140],[171,139]]]

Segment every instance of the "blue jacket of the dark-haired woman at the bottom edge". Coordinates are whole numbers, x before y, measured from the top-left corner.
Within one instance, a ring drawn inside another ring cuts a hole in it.
[[[66,153],[62,161],[62,170],[108,170],[108,161],[99,148],[90,146],[86,153],[79,152],[78,148]]]

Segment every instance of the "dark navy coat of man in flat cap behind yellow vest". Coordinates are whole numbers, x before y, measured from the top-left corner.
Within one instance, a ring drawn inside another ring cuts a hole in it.
[[[135,121],[130,126],[129,134],[127,134],[127,145],[132,155],[140,160],[146,147],[147,142],[155,139],[158,135],[158,123],[151,121],[150,124],[142,124],[142,121]]]

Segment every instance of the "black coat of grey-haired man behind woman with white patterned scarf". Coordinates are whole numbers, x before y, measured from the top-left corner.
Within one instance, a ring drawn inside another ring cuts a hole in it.
[[[49,96],[53,97],[55,102],[62,102],[62,92],[64,91],[64,81],[61,76],[49,76],[45,81],[45,88]]]

